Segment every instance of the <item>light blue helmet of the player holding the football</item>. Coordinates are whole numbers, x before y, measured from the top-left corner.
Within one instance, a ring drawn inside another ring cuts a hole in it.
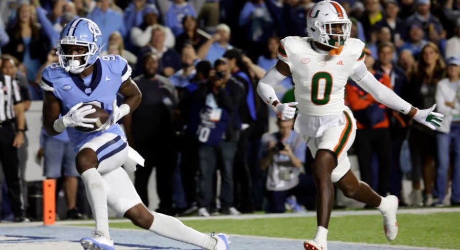
[[[84,46],[88,51],[81,55],[66,55],[61,47],[64,44]],[[102,32],[95,22],[83,17],[76,18],[64,27],[57,41],[59,64],[65,71],[79,74],[96,62],[103,46]],[[83,57],[85,62],[80,64],[74,59],[76,57]]]

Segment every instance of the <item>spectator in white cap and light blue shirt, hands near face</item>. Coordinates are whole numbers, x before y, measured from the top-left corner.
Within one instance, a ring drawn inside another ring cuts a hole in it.
[[[230,27],[226,24],[220,24],[216,26],[216,30],[214,36],[198,49],[198,57],[202,60],[208,60],[212,64],[221,58],[227,50],[233,49],[233,46],[229,44]]]

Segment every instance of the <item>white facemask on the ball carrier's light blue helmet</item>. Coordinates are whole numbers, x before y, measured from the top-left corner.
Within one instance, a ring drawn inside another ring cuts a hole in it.
[[[83,46],[87,48],[87,52],[84,54],[67,55],[61,47],[62,45]],[[90,57],[97,56],[99,54],[98,51],[99,48],[96,43],[77,41],[75,36],[64,36],[58,41],[57,55],[59,56],[59,64],[65,69],[65,71],[70,71],[73,74],[79,74],[87,69],[87,67],[91,66],[92,64],[88,63],[90,61],[89,59]],[[80,60],[78,59],[80,57],[83,58],[83,63],[80,63]]]

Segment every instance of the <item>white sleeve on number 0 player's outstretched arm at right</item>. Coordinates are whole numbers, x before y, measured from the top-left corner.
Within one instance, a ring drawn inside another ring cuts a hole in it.
[[[396,95],[393,90],[380,83],[367,71],[364,63],[359,63],[353,70],[352,79],[366,92],[383,105],[407,114],[412,105]]]

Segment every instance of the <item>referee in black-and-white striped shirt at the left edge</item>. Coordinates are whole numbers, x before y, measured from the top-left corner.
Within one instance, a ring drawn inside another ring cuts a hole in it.
[[[15,222],[27,220],[19,182],[17,149],[24,144],[24,103],[16,79],[0,74],[0,162]]]

